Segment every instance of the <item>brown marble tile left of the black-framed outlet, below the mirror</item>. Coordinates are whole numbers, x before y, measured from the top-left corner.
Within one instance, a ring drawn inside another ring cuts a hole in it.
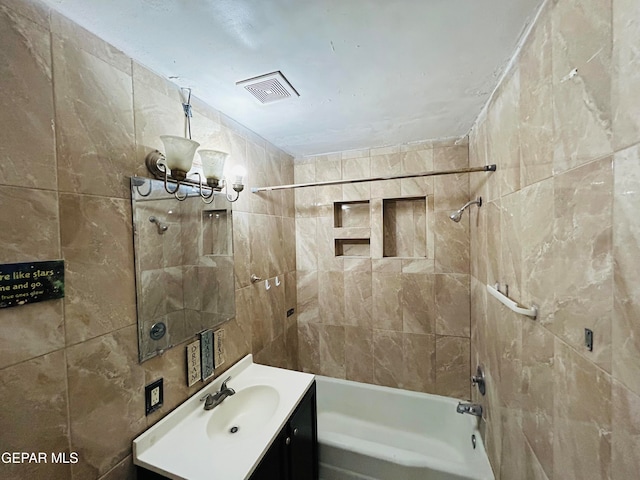
[[[77,478],[107,473],[146,428],[145,374],[134,325],[67,348],[71,444]],[[96,432],[100,432],[97,435]]]

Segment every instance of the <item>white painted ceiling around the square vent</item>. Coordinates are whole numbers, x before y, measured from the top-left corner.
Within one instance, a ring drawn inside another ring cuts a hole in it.
[[[46,0],[293,155],[469,132],[541,0]],[[300,96],[236,82],[281,71]]]

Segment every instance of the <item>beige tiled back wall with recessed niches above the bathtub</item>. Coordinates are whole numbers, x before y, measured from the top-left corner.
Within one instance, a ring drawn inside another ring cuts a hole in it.
[[[298,158],[294,169],[296,182],[316,182],[467,166],[463,138]],[[301,188],[295,200],[300,368],[469,398],[469,217],[448,218],[469,200],[469,174]],[[357,219],[336,221],[336,204]],[[345,237],[368,243],[336,252]]]

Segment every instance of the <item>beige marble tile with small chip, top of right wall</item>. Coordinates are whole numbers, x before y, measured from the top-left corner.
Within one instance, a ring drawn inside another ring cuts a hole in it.
[[[611,16],[611,0],[566,0],[552,11],[554,173],[612,153]]]

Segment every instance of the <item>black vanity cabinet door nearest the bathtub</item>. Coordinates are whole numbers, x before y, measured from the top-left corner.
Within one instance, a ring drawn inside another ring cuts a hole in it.
[[[289,433],[289,478],[317,480],[318,435],[316,431],[316,384],[305,395],[291,417]]]

